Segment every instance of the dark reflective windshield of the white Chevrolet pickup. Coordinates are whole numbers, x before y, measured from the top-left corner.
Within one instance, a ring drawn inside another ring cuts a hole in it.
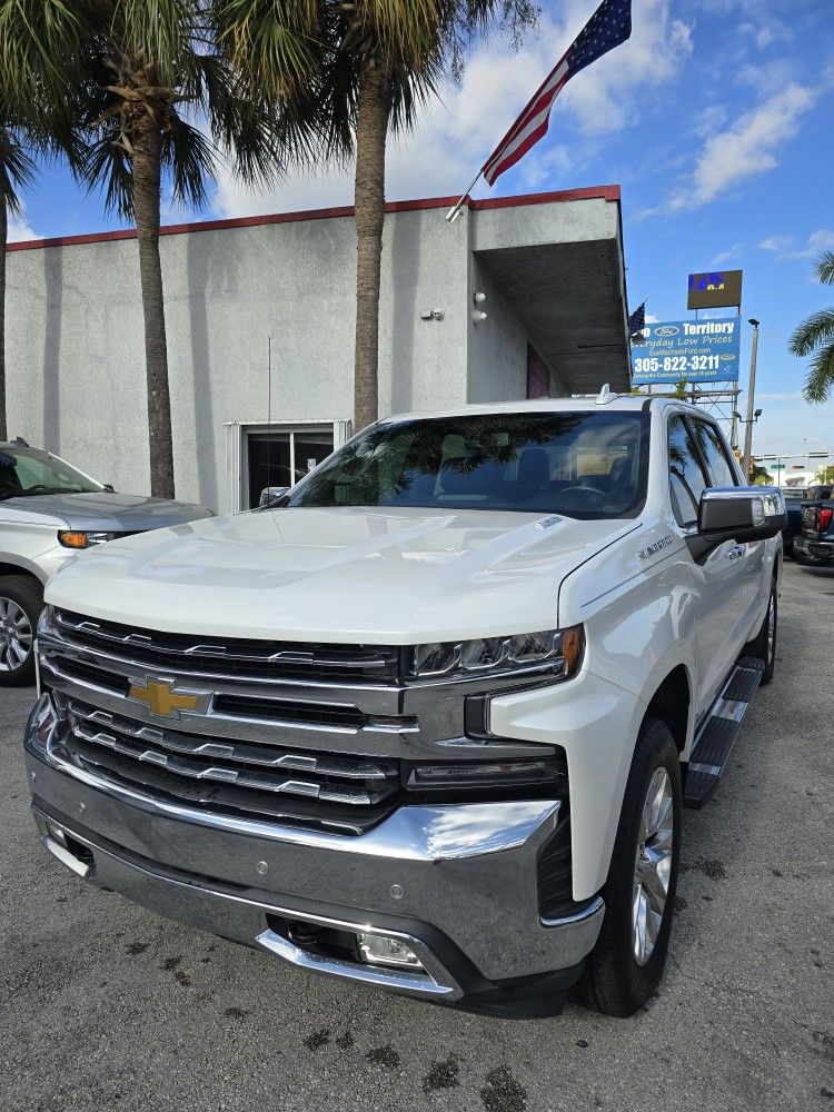
[[[628,517],[646,494],[648,415],[470,414],[355,437],[290,493],[295,506],[423,506]]]

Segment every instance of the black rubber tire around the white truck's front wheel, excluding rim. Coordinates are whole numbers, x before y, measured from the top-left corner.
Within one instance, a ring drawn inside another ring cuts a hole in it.
[[[661,927],[645,964],[635,957],[633,906],[635,863],[642,835],[643,807],[658,768],[665,768],[672,787],[672,863]],[[666,965],[681,857],[681,761],[668,726],[646,717],[641,726],[628,774],[608,880],[602,895],[605,919],[597,944],[588,955],[578,984],[586,1007],[605,1015],[633,1015],[654,993]]]

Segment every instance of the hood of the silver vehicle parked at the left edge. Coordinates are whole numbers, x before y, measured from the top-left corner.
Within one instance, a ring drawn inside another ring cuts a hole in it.
[[[143,533],[209,517],[210,510],[188,502],[145,498],[136,494],[41,494],[0,502],[0,522],[24,516],[38,524],[88,533]]]

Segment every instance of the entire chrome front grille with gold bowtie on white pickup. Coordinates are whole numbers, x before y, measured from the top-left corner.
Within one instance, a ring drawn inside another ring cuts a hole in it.
[[[401,655],[221,644],[51,609],[38,631],[57,736],[85,775],[183,810],[342,834],[409,798],[415,762],[543,755],[538,743],[466,736],[465,703],[490,689],[488,678],[407,683]]]

